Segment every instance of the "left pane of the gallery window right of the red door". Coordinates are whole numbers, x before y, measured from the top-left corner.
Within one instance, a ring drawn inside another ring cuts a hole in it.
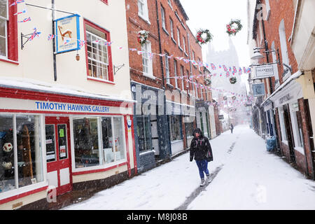
[[[76,168],[99,165],[97,118],[73,119]]]

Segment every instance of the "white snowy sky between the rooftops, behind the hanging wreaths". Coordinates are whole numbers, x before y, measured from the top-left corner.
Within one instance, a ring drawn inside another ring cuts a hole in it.
[[[212,43],[215,50],[228,49],[229,36],[226,25],[233,20],[241,20],[243,28],[232,41],[239,56],[239,66],[251,64],[247,45],[247,1],[246,0],[181,0],[183,8],[188,15],[187,21],[193,34],[198,29],[209,29],[214,35]],[[203,55],[207,53],[207,46],[203,46]],[[205,59],[205,57],[204,57]],[[246,80],[247,76],[243,76]]]

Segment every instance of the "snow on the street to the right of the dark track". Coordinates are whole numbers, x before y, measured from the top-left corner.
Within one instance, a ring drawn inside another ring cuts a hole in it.
[[[315,183],[242,130],[229,160],[188,209],[315,209]]]

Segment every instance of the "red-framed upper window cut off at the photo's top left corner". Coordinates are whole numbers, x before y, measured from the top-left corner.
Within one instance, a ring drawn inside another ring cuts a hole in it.
[[[18,23],[13,0],[0,0],[0,60],[18,61]]]

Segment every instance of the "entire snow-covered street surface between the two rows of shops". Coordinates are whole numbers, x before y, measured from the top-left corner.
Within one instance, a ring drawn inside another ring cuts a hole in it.
[[[265,141],[248,126],[210,143],[214,179],[203,188],[186,153],[63,209],[315,209],[314,181],[267,152]]]

